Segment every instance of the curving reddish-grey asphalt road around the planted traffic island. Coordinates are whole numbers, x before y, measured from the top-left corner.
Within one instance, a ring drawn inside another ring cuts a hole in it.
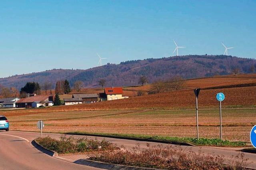
[[[12,136],[10,136],[12,135]],[[44,136],[51,136],[59,138],[61,134],[46,134]],[[71,136],[71,135],[67,135]],[[32,146],[31,141],[35,138],[40,137],[40,133],[36,132],[18,132],[18,131],[0,131],[0,170],[48,170],[48,169],[86,169],[86,170],[97,170],[98,168],[92,168],[84,165],[74,164],[72,162],[60,160],[48,156],[42,153]],[[84,136],[74,137],[81,138]],[[95,138],[93,136],[87,136],[87,138]],[[102,140],[102,137],[97,137],[98,140]],[[158,145],[159,143],[154,142],[143,142],[136,140],[125,140],[116,138],[105,138],[117,146],[125,146],[125,148],[132,148],[136,144],[140,144],[141,148],[146,148],[146,144]],[[167,144],[162,144],[163,146]],[[239,152],[236,148],[215,148],[215,147],[193,147],[193,146],[181,146],[185,150],[192,150],[199,152],[201,150],[205,154],[214,153],[218,155],[224,155],[225,158],[230,156],[236,156]],[[245,153],[245,158],[248,158],[248,162],[252,162],[248,165],[250,168],[256,169],[256,154]],[[22,168],[21,168],[22,167]]]

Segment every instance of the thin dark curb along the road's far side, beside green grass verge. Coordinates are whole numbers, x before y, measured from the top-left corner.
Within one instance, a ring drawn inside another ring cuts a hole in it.
[[[190,143],[186,143],[186,142],[175,142],[175,141],[168,141],[168,140],[156,140],[156,139],[143,139],[143,138],[133,138],[133,137],[111,136],[111,135],[103,135],[103,134],[86,134],[86,133],[65,133],[65,134],[82,135],[82,136],[97,136],[97,137],[104,137],[104,138],[116,138],[116,139],[127,139],[127,140],[138,140],[138,141],[145,141],[145,142],[157,142],[157,143],[176,144],[176,145],[183,145],[183,146],[196,146],[194,144],[190,144]]]

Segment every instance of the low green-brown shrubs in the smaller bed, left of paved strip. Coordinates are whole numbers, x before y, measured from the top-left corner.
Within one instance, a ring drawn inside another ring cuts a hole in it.
[[[86,152],[92,150],[113,150],[115,147],[112,143],[97,139],[92,140],[88,138],[74,138],[73,136],[61,136],[60,140],[46,136],[44,138],[37,138],[38,142],[43,147],[54,150],[60,154]]]

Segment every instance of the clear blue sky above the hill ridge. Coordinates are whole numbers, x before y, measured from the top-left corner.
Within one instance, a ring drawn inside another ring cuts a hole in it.
[[[0,77],[121,61],[256,58],[255,0],[1,0]]]

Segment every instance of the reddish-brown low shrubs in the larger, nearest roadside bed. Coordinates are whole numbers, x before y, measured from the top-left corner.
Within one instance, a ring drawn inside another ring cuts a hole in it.
[[[89,156],[90,160],[111,164],[168,170],[240,170],[248,165],[243,153],[226,160],[224,156],[195,153],[180,146],[163,147],[149,144],[147,149],[141,149],[137,145],[128,150],[92,152]]]

